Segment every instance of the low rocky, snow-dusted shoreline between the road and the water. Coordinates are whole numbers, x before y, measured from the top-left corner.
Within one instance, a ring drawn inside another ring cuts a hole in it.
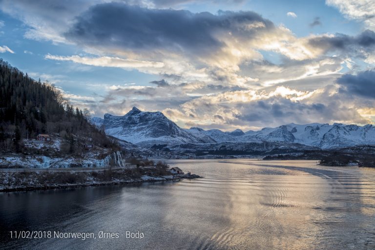
[[[203,178],[195,174],[160,175],[155,169],[116,169],[89,172],[0,172],[0,192],[130,185]],[[140,171],[142,171],[140,173]]]

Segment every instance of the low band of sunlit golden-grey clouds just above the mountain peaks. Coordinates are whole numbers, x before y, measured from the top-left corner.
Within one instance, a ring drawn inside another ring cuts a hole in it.
[[[327,84],[326,78],[321,81]],[[366,124],[372,119],[368,110],[375,104],[375,101],[369,102],[369,98],[353,98],[353,93],[344,83],[312,90],[299,90],[303,87],[300,85],[297,88],[277,86],[252,90],[204,83],[164,82],[155,81],[156,86],[104,86],[105,95],[96,97],[95,102],[89,102],[87,98],[83,98],[85,101],[75,100],[94,110],[97,116],[107,112],[124,115],[135,105],[150,111],[161,110],[183,127],[224,130],[257,129],[291,122]],[[163,87],[158,87],[158,84]],[[314,84],[316,79],[312,79],[312,86]],[[372,93],[371,89],[368,91]]]

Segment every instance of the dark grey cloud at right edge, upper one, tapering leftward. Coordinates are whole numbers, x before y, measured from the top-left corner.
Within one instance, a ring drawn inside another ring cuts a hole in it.
[[[325,51],[340,51],[363,57],[365,53],[373,52],[375,49],[375,32],[365,30],[355,37],[344,34],[315,37],[309,40],[309,44]]]

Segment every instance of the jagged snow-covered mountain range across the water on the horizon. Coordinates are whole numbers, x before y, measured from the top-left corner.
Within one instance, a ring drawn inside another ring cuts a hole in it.
[[[282,142],[319,148],[375,145],[373,125],[291,123],[245,133],[240,129],[232,132],[219,129],[204,130],[198,127],[183,129],[161,112],[143,112],[136,107],[124,116],[105,114],[104,119],[95,117],[91,122],[98,127],[104,125],[108,135],[141,146],[226,142]]]

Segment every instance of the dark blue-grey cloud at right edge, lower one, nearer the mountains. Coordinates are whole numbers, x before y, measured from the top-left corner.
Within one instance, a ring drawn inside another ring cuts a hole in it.
[[[346,74],[337,79],[344,88],[341,91],[375,99],[375,71],[367,70],[357,75]]]

